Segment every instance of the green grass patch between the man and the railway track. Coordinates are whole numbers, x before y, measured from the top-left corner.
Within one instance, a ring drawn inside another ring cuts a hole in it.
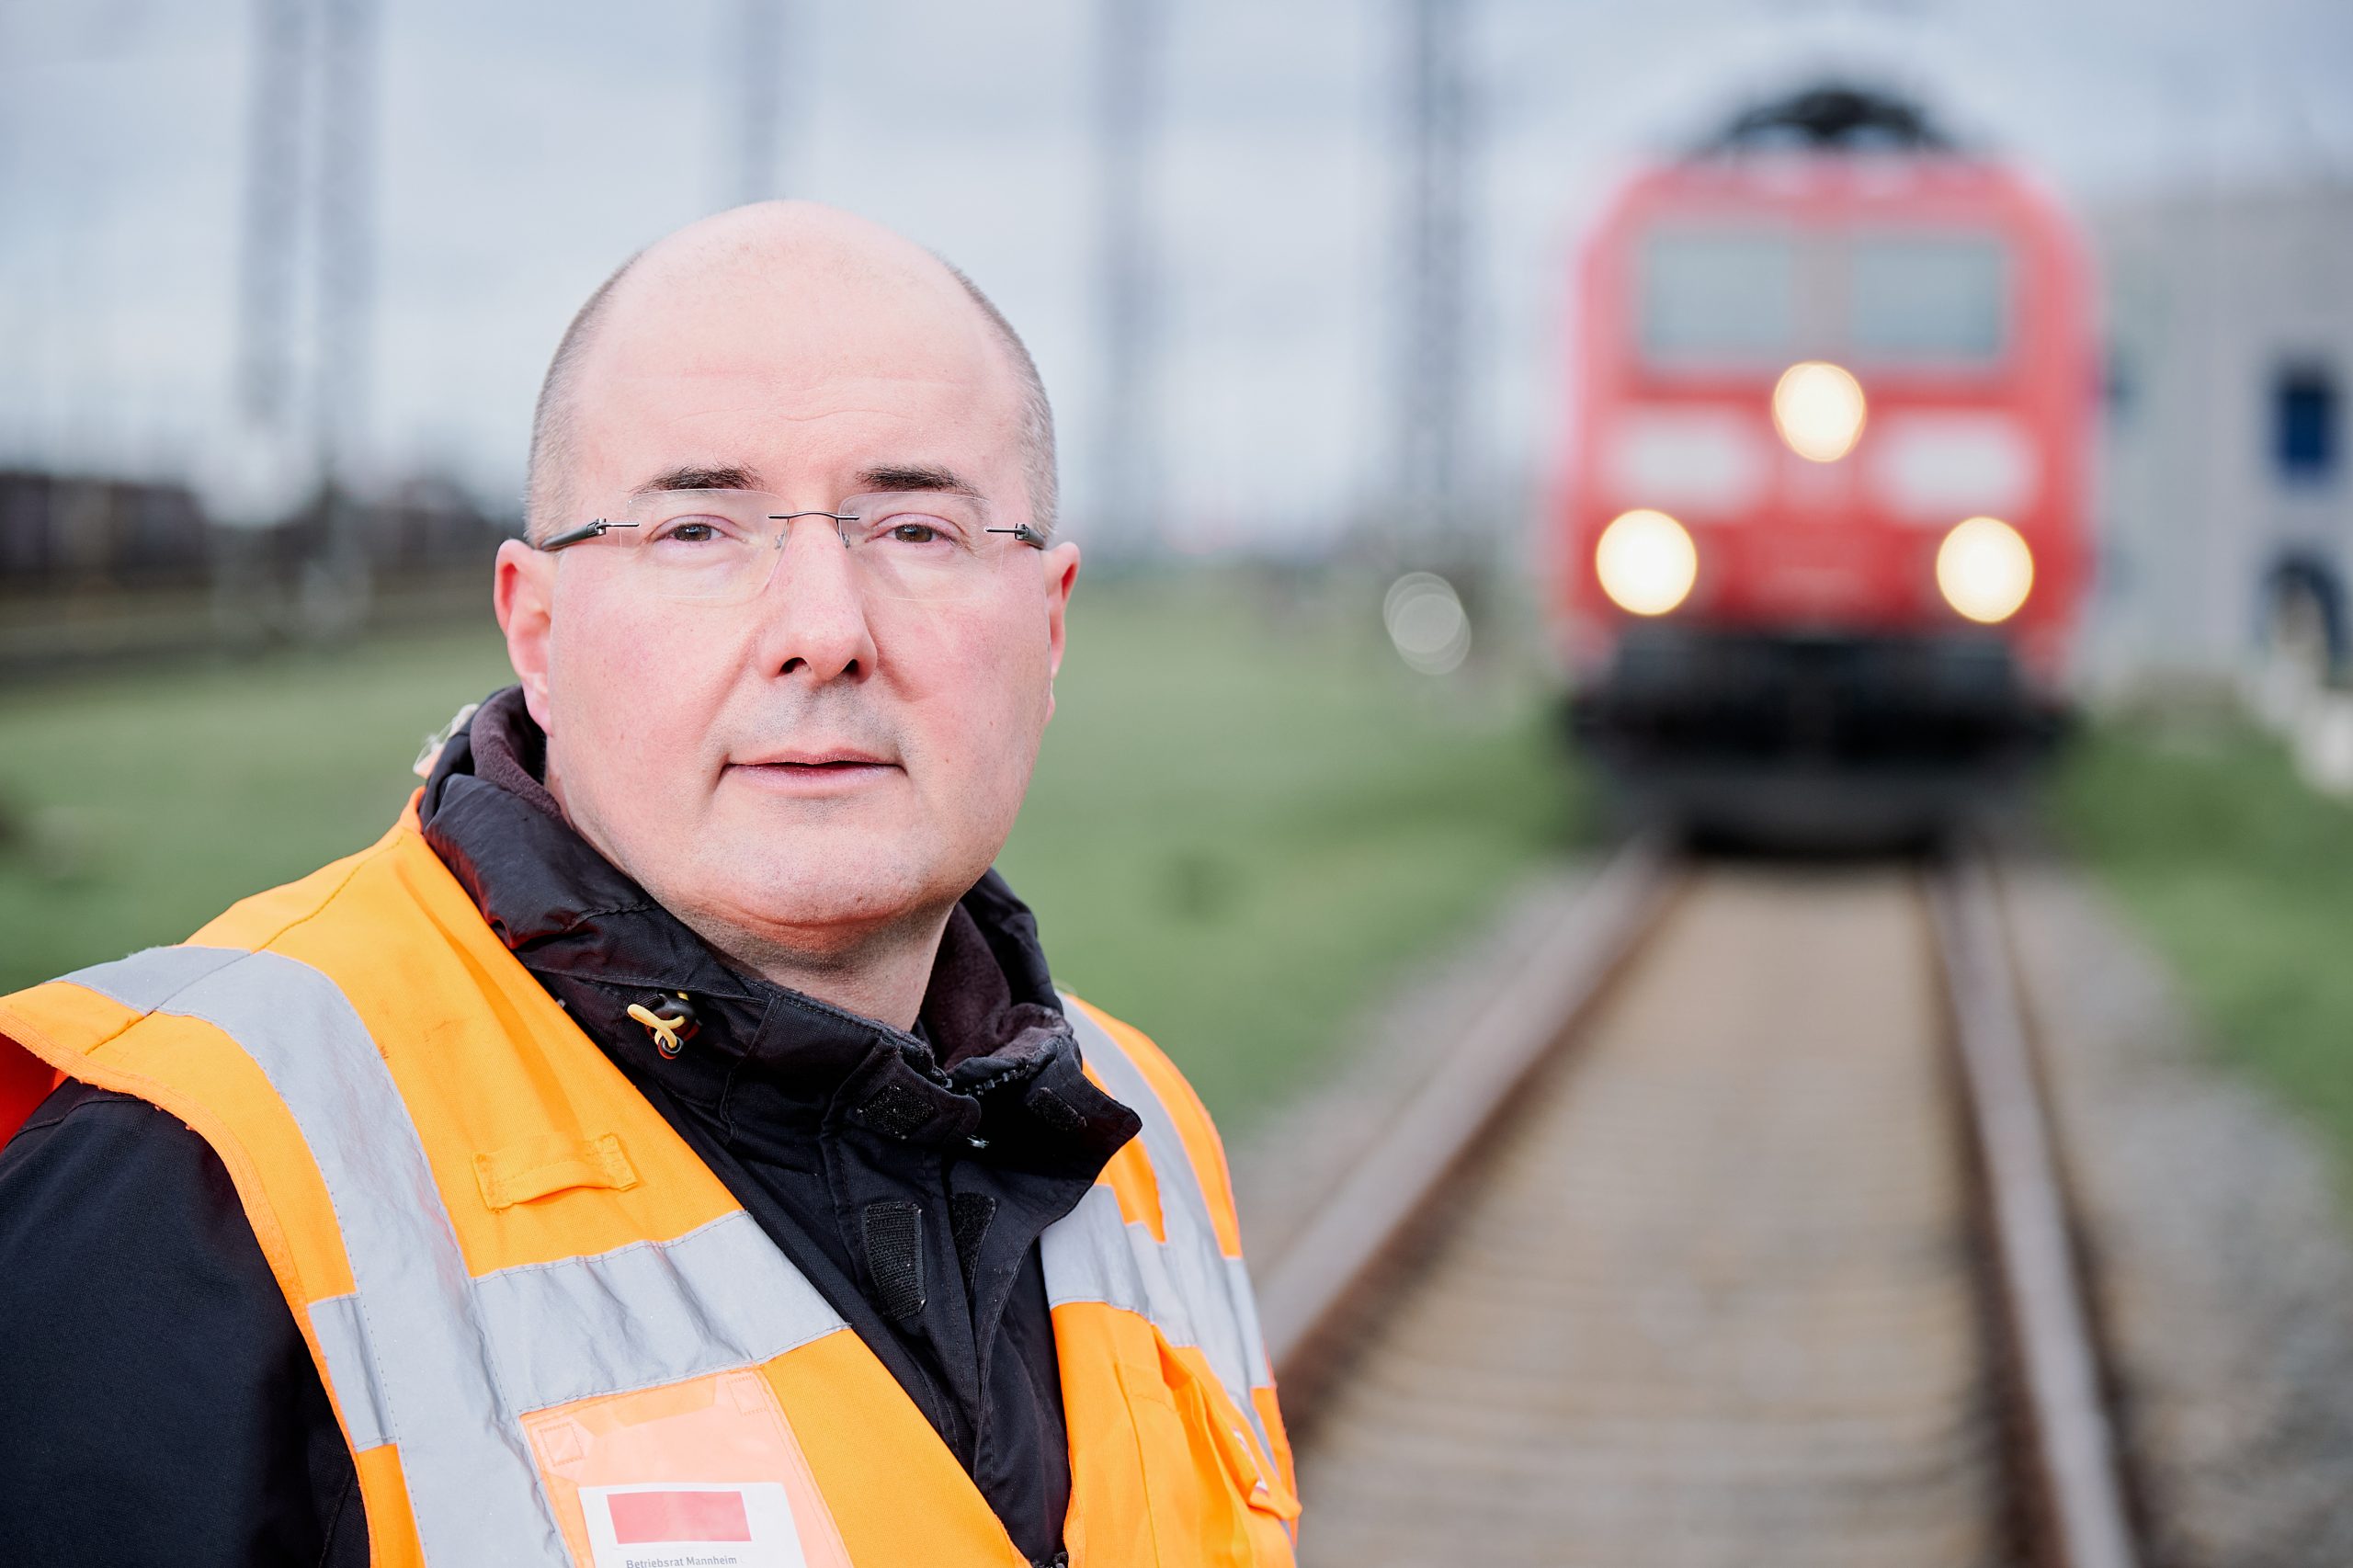
[[[1228,1130],[1586,819],[1532,687],[1433,685],[1379,638],[1217,586],[1073,610],[1002,869],[1056,979]]]

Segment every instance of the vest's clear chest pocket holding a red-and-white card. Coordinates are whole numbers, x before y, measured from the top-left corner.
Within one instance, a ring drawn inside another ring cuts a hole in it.
[[[755,1368],[555,1406],[522,1417],[522,1429],[576,1568],[720,1542],[746,1563],[849,1568],[833,1511]]]

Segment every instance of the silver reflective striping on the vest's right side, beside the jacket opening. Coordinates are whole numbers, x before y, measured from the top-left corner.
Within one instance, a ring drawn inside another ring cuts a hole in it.
[[[1066,1001],[1064,1012],[1078,1034],[1080,1055],[1104,1088],[1144,1121],[1144,1154],[1160,1187],[1160,1236],[1167,1241],[1141,1222],[1122,1220],[1111,1187],[1092,1187],[1075,1210],[1045,1231],[1045,1300],[1049,1307],[1122,1307],[1151,1318],[1169,1344],[1198,1347],[1271,1460],[1275,1448],[1249,1389],[1273,1387],[1275,1375],[1259,1335],[1249,1274],[1240,1257],[1226,1257],[1219,1245],[1200,1172],[1144,1069],[1075,1001]]]

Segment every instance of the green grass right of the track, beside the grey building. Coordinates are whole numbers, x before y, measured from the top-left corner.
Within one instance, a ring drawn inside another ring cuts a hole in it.
[[[2353,1177],[2353,808],[2228,720],[2097,725],[2052,803],[2217,1050],[2308,1116]]]

